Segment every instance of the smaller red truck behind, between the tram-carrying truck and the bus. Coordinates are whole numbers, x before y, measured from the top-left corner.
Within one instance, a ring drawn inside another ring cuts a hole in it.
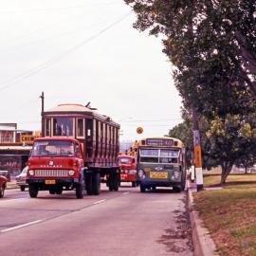
[[[121,170],[120,181],[132,182],[132,186],[137,186],[136,157],[133,155],[119,155],[119,167]]]

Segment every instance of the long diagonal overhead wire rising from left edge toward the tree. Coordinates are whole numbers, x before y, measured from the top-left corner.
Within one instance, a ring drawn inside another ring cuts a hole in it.
[[[95,35],[85,39],[84,41],[82,41],[82,43],[73,46],[71,48],[69,48],[68,50],[64,51],[64,53],[62,53],[61,55],[45,62],[44,64],[39,64],[37,67],[35,68],[31,68],[30,70],[28,70],[27,72],[25,72],[24,74],[21,74],[19,76],[17,76],[16,78],[12,79],[10,82],[6,82],[4,83],[1,87],[0,87],[0,91],[5,90],[7,88],[9,88],[10,86],[14,85],[17,82],[21,82],[23,80],[26,80],[27,78],[41,72],[42,70],[45,70],[46,68],[48,68],[49,66],[56,64],[58,62],[60,62],[62,59],[64,59],[64,57],[74,51],[76,51],[77,49],[81,48],[82,46],[86,45],[87,43],[89,43],[90,41],[98,38],[99,36],[101,36],[101,34],[103,34],[104,32],[106,32],[107,30],[109,30],[112,27],[115,27],[116,25],[118,25],[120,22],[122,22],[124,19],[126,19],[128,16],[130,16],[132,14],[132,12],[130,11],[129,13],[126,13],[125,15],[123,15],[121,18],[119,18],[116,22],[110,24],[109,26],[101,29],[101,31],[99,31],[98,33],[96,33]]]

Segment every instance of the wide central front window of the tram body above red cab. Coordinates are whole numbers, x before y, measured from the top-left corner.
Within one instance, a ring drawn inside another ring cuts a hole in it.
[[[72,118],[53,119],[53,136],[73,136]]]

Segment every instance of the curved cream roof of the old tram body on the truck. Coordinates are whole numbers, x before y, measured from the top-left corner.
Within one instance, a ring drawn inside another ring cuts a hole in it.
[[[83,114],[110,122],[119,127],[119,124],[110,117],[99,114],[94,108],[83,106],[82,104],[64,103],[44,111],[44,115],[64,115],[64,114]]]

